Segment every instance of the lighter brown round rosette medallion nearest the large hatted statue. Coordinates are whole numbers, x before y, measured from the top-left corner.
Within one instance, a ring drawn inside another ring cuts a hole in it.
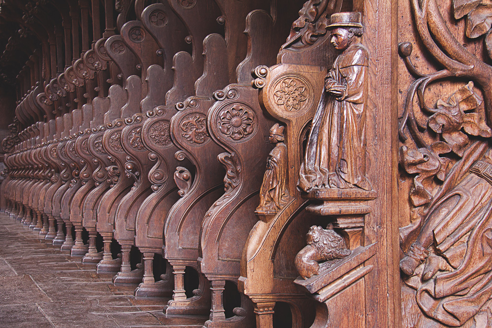
[[[302,75],[289,72],[280,74],[272,83],[269,93],[272,103],[282,116],[298,116],[313,104],[313,88]]]

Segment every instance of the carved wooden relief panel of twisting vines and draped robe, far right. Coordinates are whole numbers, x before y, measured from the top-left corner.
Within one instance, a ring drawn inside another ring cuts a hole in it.
[[[492,327],[492,6],[402,8],[402,326]]]

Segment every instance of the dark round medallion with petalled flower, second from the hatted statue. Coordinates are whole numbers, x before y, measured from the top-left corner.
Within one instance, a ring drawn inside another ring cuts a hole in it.
[[[232,141],[244,142],[253,136],[256,116],[249,105],[232,103],[223,107],[217,115],[219,131]]]

